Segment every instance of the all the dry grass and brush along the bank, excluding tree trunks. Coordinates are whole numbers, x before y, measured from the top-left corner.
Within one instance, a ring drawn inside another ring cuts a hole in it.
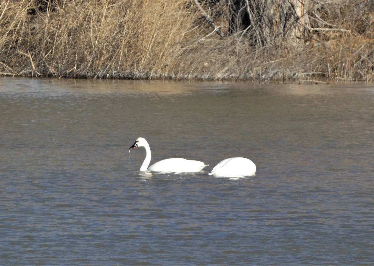
[[[215,34],[188,0],[2,0],[0,72],[67,78],[323,77],[372,82],[374,4],[310,4],[311,27],[330,30],[310,31],[302,46],[285,42],[256,47],[242,33],[224,38]],[[226,33],[227,6],[214,7],[209,15]]]

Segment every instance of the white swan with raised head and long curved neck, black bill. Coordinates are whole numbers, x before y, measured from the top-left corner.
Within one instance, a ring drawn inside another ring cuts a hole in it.
[[[138,137],[130,149],[135,149],[137,147],[144,147],[147,152],[143,164],[140,167],[140,171],[193,173],[202,170],[205,166],[209,166],[209,164],[204,164],[200,161],[186,160],[183,158],[170,158],[158,161],[148,168],[149,163],[151,162],[151,149],[149,148],[147,140]]]

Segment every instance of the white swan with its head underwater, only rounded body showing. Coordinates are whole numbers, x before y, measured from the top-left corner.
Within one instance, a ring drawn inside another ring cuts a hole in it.
[[[256,165],[249,159],[243,157],[227,158],[220,161],[209,173],[216,177],[242,177],[254,176]]]

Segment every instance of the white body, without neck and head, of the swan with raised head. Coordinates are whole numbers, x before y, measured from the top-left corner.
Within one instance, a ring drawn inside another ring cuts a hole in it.
[[[208,165],[209,164],[204,164],[203,162],[195,160],[186,160],[183,158],[170,158],[152,164],[148,168],[148,171],[193,173],[201,171],[205,166]]]

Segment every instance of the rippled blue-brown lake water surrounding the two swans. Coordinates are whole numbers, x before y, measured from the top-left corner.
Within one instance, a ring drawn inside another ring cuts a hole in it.
[[[0,265],[374,263],[373,86],[2,77],[0,115]]]

